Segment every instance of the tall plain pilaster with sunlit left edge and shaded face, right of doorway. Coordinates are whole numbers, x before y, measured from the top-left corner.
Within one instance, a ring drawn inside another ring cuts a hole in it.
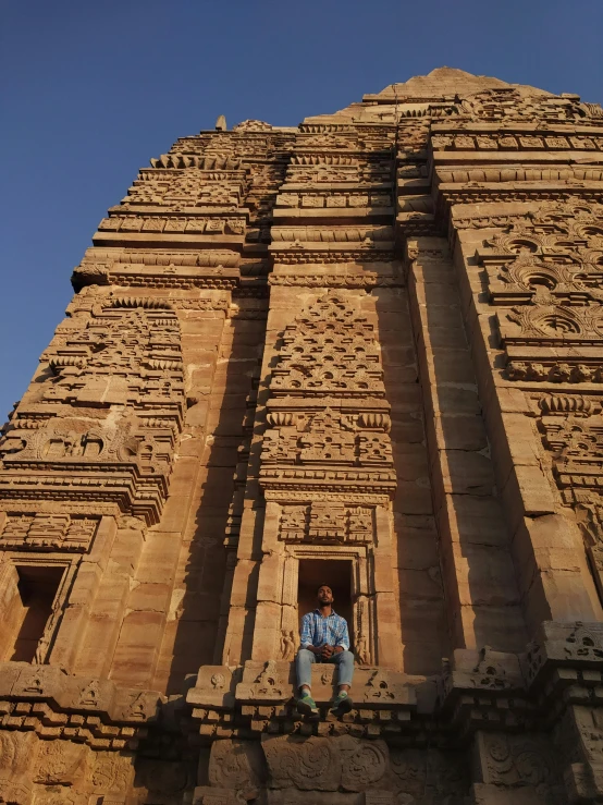
[[[452,648],[521,650],[527,637],[497,497],[491,446],[445,242],[442,257],[415,264],[414,326]],[[422,310],[418,314],[418,308]],[[470,336],[470,333],[469,333]]]

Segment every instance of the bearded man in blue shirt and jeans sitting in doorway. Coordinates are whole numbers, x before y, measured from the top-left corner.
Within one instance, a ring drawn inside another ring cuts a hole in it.
[[[333,662],[339,670],[339,693],[331,712],[343,716],[353,708],[348,695],[354,674],[354,655],[349,650],[349,634],[345,618],[333,609],[333,590],[328,584],[318,588],[318,607],[302,619],[302,648],[295,658],[299,698],[297,710],[304,716],[319,716],[316,702],[311,697],[312,664]]]

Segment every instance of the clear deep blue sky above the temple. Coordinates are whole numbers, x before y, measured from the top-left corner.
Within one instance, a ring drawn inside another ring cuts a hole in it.
[[[0,0],[0,420],[107,208],[176,137],[454,66],[603,101],[603,0]]]

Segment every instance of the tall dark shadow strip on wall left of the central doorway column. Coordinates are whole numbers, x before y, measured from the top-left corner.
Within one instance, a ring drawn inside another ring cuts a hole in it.
[[[230,334],[229,330],[232,332]],[[247,398],[261,359],[264,320],[235,317],[226,326],[218,345],[218,364],[209,394],[209,411],[204,431],[206,446],[195,502],[194,525],[187,526],[187,548],[183,598],[170,667],[168,694],[181,693],[187,674],[201,664],[221,662],[231,584],[236,563],[236,538],[231,550],[224,548],[230,530],[229,510],[235,491],[243,495],[246,464],[241,447],[246,438],[244,420]],[[241,464],[237,467],[237,462]],[[235,473],[238,480],[235,485]],[[233,519],[239,519],[236,512]],[[182,564],[182,562],[181,562]],[[254,587],[253,584],[249,585]],[[249,619],[247,619],[249,620]],[[251,629],[244,624],[250,652]]]

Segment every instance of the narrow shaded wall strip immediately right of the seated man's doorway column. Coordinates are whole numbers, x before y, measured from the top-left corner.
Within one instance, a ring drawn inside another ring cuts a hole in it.
[[[399,583],[404,670],[441,671],[447,656],[444,593],[430,489],[418,359],[406,288],[376,289],[386,399],[392,406],[394,566]]]

